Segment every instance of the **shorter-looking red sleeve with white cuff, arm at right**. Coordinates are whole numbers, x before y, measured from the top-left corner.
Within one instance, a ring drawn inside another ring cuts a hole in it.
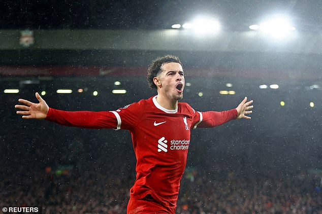
[[[200,113],[200,122],[196,126],[198,126],[199,128],[211,128],[234,120],[236,118],[236,109],[223,112],[202,112]]]

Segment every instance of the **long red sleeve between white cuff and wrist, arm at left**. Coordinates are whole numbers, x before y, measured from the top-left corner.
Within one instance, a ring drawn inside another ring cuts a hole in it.
[[[68,112],[49,108],[45,120],[65,126],[117,129],[117,118],[114,112]]]

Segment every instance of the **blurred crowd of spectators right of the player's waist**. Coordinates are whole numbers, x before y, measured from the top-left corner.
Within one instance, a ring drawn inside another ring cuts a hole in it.
[[[321,177],[316,174],[218,169],[198,172],[196,180],[182,188],[178,213],[322,212]]]

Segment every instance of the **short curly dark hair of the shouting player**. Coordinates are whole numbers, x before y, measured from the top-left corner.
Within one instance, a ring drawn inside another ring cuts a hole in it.
[[[162,72],[162,66],[164,64],[170,63],[170,62],[177,62],[182,66],[182,63],[179,59],[179,57],[177,56],[173,56],[173,55],[166,55],[163,57],[157,57],[150,65],[148,68],[148,76],[147,76],[147,81],[149,84],[149,87],[151,89],[157,89],[156,85],[153,82],[153,78],[156,77],[156,75],[159,72]]]

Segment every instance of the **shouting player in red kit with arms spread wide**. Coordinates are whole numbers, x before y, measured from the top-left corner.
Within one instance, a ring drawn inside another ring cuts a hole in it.
[[[66,112],[19,99],[17,114],[24,119],[46,119],[83,128],[130,130],[135,150],[136,181],[131,188],[127,213],[175,213],[179,186],[186,165],[190,129],[214,127],[232,119],[250,119],[253,106],[247,97],[236,109],[197,112],[178,102],[183,97],[184,72],[178,57],[159,57],[148,68],[148,83],[157,95],[111,112]]]

